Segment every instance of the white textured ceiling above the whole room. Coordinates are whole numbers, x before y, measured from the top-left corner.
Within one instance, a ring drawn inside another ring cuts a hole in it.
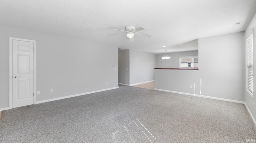
[[[201,37],[244,31],[255,11],[256,0],[0,0],[0,24],[165,53],[195,50]],[[112,29],[126,25],[152,37],[113,37],[123,32]]]

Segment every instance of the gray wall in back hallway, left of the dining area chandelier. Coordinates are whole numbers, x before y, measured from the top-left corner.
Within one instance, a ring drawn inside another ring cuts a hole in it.
[[[130,84],[155,80],[156,54],[130,49]]]

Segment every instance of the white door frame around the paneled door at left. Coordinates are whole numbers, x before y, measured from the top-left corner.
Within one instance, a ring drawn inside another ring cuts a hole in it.
[[[28,39],[20,39],[20,38],[14,38],[14,37],[9,37],[9,109],[12,109],[13,105],[12,105],[12,41],[13,40],[20,40],[20,41],[28,41],[28,42],[33,42],[34,43],[34,61],[33,61],[33,70],[34,70],[34,89],[33,89],[33,98],[34,98],[34,102],[33,104],[36,104],[36,41],[35,40],[28,40]]]

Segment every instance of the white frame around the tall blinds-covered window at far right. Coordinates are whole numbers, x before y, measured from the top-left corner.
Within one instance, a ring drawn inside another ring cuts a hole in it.
[[[248,92],[248,94],[250,94],[250,96],[252,96],[252,98],[254,98],[254,91],[252,89],[249,90],[248,89],[248,39],[252,36],[252,88],[254,87],[254,29],[251,30],[251,32],[248,34],[248,36],[246,37],[246,91]]]

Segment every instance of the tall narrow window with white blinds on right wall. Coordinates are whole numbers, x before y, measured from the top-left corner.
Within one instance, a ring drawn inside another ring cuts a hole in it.
[[[247,48],[247,92],[253,97],[253,30],[246,38]]]

